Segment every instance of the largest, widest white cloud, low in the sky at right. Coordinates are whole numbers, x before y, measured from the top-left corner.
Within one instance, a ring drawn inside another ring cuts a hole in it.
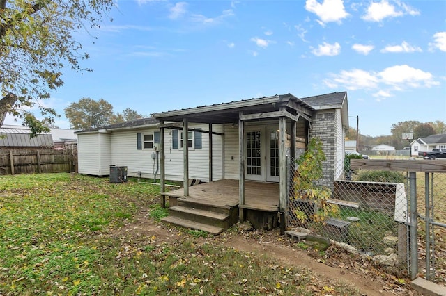
[[[339,74],[330,74],[323,82],[329,88],[376,90],[376,96],[380,98],[392,97],[392,92],[410,88],[431,88],[440,84],[431,73],[408,65],[387,67],[381,72],[367,72],[362,69],[344,70]]]

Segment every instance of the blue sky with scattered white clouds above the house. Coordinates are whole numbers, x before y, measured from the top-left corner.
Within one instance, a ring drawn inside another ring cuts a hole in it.
[[[344,91],[362,135],[446,122],[444,0],[119,0],[109,18],[74,34],[93,72],[64,70],[64,85],[41,103],[62,129],[63,109],[83,97],[150,116]]]

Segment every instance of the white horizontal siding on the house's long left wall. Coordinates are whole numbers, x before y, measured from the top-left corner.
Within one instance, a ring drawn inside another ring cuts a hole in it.
[[[190,128],[208,130],[208,124],[190,124]],[[109,166],[125,166],[128,176],[160,179],[160,153],[155,149],[138,149],[138,133],[144,135],[158,132],[154,126],[148,129],[112,131],[109,134],[91,133],[79,135],[79,173],[109,175]],[[183,181],[183,150],[172,149],[171,129],[165,130],[166,179]],[[214,125],[213,131],[222,133],[222,126]],[[189,151],[190,179],[209,180],[209,135],[201,134],[202,149]],[[155,140],[155,138],[153,138]],[[144,142],[142,143],[144,147]],[[153,156],[155,156],[153,158]],[[158,170],[157,161],[158,157]],[[222,179],[222,135],[213,135],[213,180]]]

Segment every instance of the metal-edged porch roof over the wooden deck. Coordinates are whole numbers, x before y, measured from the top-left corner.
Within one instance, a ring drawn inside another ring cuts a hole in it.
[[[209,106],[199,106],[174,110],[164,113],[155,113],[153,117],[164,122],[180,122],[187,119],[188,122],[225,124],[238,123],[239,113],[256,114],[270,113],[285,106],[292,114],[302,113],[311,117],[314,108],[304,101],[294,97],[292,94],[277,95],[273,97],[263,97],[259,99],[248,99],[234,101],[230,103],[215,104]]]

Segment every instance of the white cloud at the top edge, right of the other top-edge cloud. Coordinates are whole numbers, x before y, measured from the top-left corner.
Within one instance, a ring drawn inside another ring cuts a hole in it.
[[[400,1],[395,2],[396,6],[387,0],[371,2],[367,8],[367,13],[361,18],[368,22],[381,22],[387,17],[401,17],[403,15],[419,15],[420,12]]]

